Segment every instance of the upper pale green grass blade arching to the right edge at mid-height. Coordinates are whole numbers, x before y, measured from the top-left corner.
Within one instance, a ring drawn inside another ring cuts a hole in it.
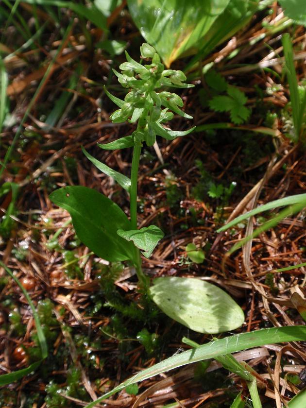
[[[256,214],[259,214],[260,212],[272,210],[273,208],[277,208],[277,207],[283,207],[285,205],[292,205],[292,204],[299,204],[299,203],[306,203],[306,194],[297,194],[297,195],[281,198],[279,200],[271,201],[268,204],[260,205],[254,210],[248,211],[245,214],[242,214],[239,217],[235,218],[235,220],[223,225],[221,228],[217,230],[217,232],[226,231],[228,228],[231,228],[234,225],[238,224],[239,222],[247,220]]]

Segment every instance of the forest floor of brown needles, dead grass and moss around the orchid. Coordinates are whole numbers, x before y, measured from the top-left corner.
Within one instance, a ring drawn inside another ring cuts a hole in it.
[[[22,14],[30,19],[27,7]],[[138,60],[143,40],[129,15],[114,16],[110,24],[113,37],[126,41],[129,53]],[[68,17],[63,20],[63,27],[67,26]],[[233,213],[304,193],[306,188],[305,146],[285,135],[290,110],[283,61],[265,46],[268,42],[281,53],[281,42],[278,34],[267,34],[251,45],[251,38],[262,32],[259,16],[238,33],[237,43],[244,47],[231,66],[226,58],[215,65],[228,84],[247,96],[246,106],[252,109],[249,122],[237,128],[198,128],[173,141],[160,138],[155,149],[143,148],[139,169],[139,226],[153,222],[165,232],[152,257],[143,258],[144,271],[152,279],[198,277],[225,289],[245,314],[245,322],[234,333],[305,324],[290,303],[295,292],[303,297],[305,268],[277,272],[306,262],[305,211],[280,220],[254,238],[249,250],[244,247],[230,256],[226,253],[243,238],[245,224],[216,232]],[[109,120],[114,105],[103,85],[122,97],[111,68],[118,68],[124,54],[111,59],[97,51],[100,34],[91,28],[89,47],[74,25],[60,44],[50,26],[34,49],[5,61],[10,114],[2,129],[0,161],[13,143],[2,181],[16,183],[18,192],[15,197],[11,189],[0,190],[0,256],[38,310],[49,356],[38,370],[0,390],[0,407],[85,406],[132,374],[189,348],[181,341],[184,336],[201,344],[212,339],[173,322],[156,306],[148,315],[141,313],[135,271],[123,263],[108,265],[92,254],[76,237],[68,212],[49,199],[56,188],[81,185],[102,192],[129,213],[126,192],[81,151],[84,146],[109,167],[130,172],[130,149],[104,152],[97,146],[134,130],[127,122],[118,125]],[[297,27],[294,38],[298,55],[305,47],[305,30]],[[7,47],[11,46],[8,40]],[[61,51],[51,64],[59,46]],[[220,48],[205,63],[221,55]],[[276,61],[273,70],[231,68],[240,63],[254,67],[272,59]],[[184,60],[173,68],[183,69]],[[303,59],[298,59],[296,69],[302,79]],[[183,109],[193,119],[175,118],[173,130],[229,123],[226,113],[209,110],[204,77],[193,75],[192,82],[195,87],[180,94]],[[11,216],[5,218],[11,204]],[[256,217],[255,225],[273,214]],[[188,258],[190,242],[203,249],[203,263]],[[264,407],[276,406],[277,390],[286,402],[305,386],[305,352],[305,343],[300,342],[286,347],[270,344],[237,355],[257,373]],[[25,368],[39,358],[31,309],[1,268],[0,373]],[[121,391],[101,406],[228,407],[238,392],[248,396],[245,382],[215,363],[207,373],[200,366],[187,366],[138,387],[137,395]]]

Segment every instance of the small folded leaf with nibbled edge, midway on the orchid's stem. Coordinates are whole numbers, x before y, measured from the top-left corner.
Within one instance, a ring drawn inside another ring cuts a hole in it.
[[[132,231],[119,229],[117,234],[127,241],[133,241],[136,247],[139,248],[142,254],[147,258],[149,258],[155,246],[164,237],[163,231],[155,225]]]

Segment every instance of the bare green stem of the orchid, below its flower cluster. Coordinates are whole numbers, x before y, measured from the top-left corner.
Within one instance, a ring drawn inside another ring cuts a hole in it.
[[[138,181],[138,167],[141,153],[141,146],[135,145],[133,150],[132,171],[131,171],[131,187],[130,187],[130,216],[131,228],[137,229],[137,181]],[[135,269],[138,276],[141,289],[147,292],[148,280],[141,268],[140,251],[135,246]]]

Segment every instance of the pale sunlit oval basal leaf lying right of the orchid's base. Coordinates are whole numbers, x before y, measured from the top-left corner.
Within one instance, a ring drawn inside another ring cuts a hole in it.
[[[224,290],[200,279],[157,278],[150,294],[167,316],[199,333],[234,330],[244,321],[242,309]]]

